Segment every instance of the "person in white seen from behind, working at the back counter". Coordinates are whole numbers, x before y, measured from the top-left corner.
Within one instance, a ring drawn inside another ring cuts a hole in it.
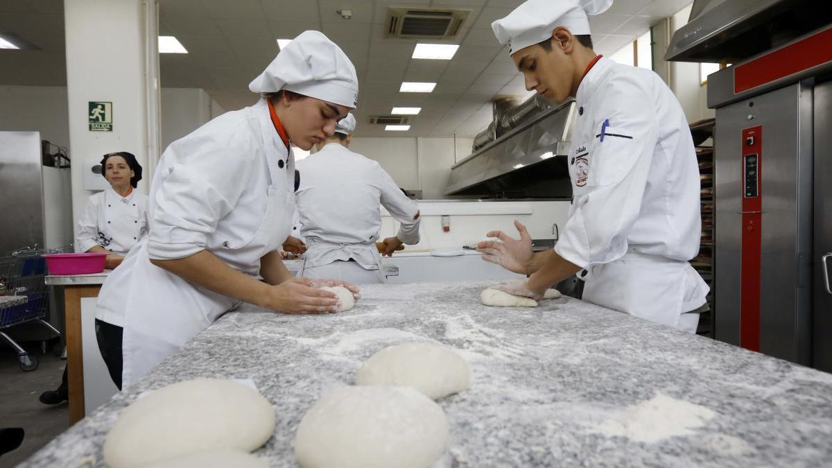
[[[419,241],[416,204],[399,190],[378,162],[349,151],[355,117],[338,122],[319,152],[298,162],[300,235],[307,251],[298,276],[336,278],[355,284],[384,283],[379,239],[382,207],[401,223],[382,242],[386,256]]]

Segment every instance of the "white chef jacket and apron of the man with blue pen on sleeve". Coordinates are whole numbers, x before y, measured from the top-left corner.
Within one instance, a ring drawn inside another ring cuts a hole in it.
[[[688,263],[700,182],[681,105],[656,73],[602,57],[576,106],[572,207],[555,250],[585,269],[584,300],[677,326],[708,292]]]

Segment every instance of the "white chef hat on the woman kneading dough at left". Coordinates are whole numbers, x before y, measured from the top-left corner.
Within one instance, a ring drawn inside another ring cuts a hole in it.
[[[297,92],[355,108],[359,79],[353,62],[319,31],[301,32],[249,84],[252,92]]]

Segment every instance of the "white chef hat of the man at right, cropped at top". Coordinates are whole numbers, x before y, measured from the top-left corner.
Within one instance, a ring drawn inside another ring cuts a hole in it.
[[[552,37],[556,27],[576,36],[589,34],[588,15],[606,12],[612,0],[527,0],[507,17],[491,23],[494,36],[508,43],[508,54]]]

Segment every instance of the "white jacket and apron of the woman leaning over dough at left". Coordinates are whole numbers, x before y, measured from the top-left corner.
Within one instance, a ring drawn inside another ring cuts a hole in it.
[[[96,318],[124,327],[124,385],[240,301],[155,266],[209,251],[250,276],[291,228],[295,162],[264,99],[171,143],[151,184],[150,232],[107,277]]]

